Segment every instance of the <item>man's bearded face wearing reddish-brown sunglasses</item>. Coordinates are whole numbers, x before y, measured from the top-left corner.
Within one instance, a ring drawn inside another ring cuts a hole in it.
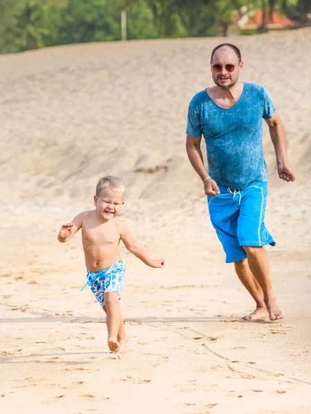
[[[227,46],[216,50],[211,60],[213,81],[222,89],[229,90],[236,84],[242,68],[243,62],[239,62],[236,52]]]

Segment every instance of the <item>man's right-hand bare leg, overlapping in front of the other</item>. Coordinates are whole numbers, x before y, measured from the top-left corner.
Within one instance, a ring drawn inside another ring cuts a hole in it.
[[[272,290],[270,262],[267,252],[262,246],[242,246],[247,255],[249,269],[256,278],[263,291],[263,300],[269,317],[272,321],[284,317],[281,308],[276,304],[276,299]],[[246,286],[245,286],[246,287]]]

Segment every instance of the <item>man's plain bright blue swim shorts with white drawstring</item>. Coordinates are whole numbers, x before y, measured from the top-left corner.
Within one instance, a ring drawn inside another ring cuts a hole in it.
[[[223,244],[226,263],[246,259],[241,246],[275,245],[265,228],[267,183],[254,181],[243,190],[219,187],[220,194],[207,196],[209,217]]]

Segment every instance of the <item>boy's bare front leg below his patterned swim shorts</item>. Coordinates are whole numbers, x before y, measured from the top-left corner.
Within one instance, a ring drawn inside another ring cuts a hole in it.
[[[106,292],[104,310],[106,311],[106,324],[108,330],[108,346],[110,351],[116,352],[120,346],[117,336],[120,329],[121,313],[119,295],[115,292]]]

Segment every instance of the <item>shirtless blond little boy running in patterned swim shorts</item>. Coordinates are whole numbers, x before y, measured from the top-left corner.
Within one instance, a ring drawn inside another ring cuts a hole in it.
[[[57,235],[59,242],[65,243],[82,228],[86,285],[91,287],[106,312],[108,346],[110,351],[117,353],[122,351],[128,339],[119,305],[125,276],[120,240],[144,264],[153,268],[162,268],[165,264],[162,259],[151,259],[118,217],[124,204],[124,193],[122,179],[111,175],[102,177],[96,186],[95,210],[79,213],[71,223],[63,224]]]

